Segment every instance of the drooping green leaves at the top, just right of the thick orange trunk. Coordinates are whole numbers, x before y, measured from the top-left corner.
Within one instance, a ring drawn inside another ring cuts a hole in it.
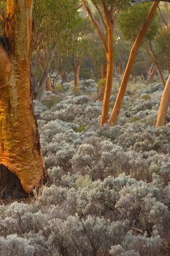
[[[51,48],[57,50],[71,47],[71,30],[78,22],[78,0],[36,0],[33,7],[35,48]],[[64,50],[63,49],[63,50]]]

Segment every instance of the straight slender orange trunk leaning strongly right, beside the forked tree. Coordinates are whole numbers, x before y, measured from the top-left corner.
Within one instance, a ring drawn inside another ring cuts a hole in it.
[[[122,106],[123,98],[124,98],[124,95],[125,95],[125,92],[126,92],[126,87],[128,85],[128,81],[129,81],[129,77],[130,77],[130,74],[131,74],[131,71],[132,71],[132,68],[133,68],[134,61],[137,57],[137,53],[138,53],[139,48],[142,44],[143,38],[145,37],[145,34],[146,34],[147,29],[149,27],[149,24],[150,24],[152,18],[154,17],[154,14],[156,12],[156,9],[157,9],[158,5],[159,5],[159,2],[154,2],[152,4],[151,9],[150,9],[150,11],[147,15],[147,18],[146,18],[145,22],[143,23],[143,25],[141,26],[141,28],[139,30],[139,34],[138,34],[137,38],[135,39],[135,42],[132,46],[130,56],[129,56],[129,60],[128,60],[128,64],[126,66],[126,69],[125,69],[125,72],[124,72],[124,75],[123,75],[120,90],[118,91],[116,102],[115,102],[111,117],[109,118],[109,121],[108,121],[108,123],[111,124],[111,125],[115,125],[116,122],[117,122],[117,118],[118,118],[118,115],[120,113],[120,109],[121,109],[121,106]]]

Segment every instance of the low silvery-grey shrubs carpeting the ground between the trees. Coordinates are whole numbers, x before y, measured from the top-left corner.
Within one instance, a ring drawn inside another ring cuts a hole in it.
[[[125,97],[114,127],[99,126],[101,102],[87,95],[35,102],[53,184],[31,204],[0,206],[1,255],[170,254],[170,125],[154,126],[162,90]]]

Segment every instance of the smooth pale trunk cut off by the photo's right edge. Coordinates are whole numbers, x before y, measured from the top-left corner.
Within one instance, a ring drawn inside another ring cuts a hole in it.
[[[162,95],[162,99],[160,101],[157,122],[156,122],[157,127],[164,126],[166,124],[166,115],[167,115],[169,102],[170,102],[170,75],[167,79],[164,92]]]

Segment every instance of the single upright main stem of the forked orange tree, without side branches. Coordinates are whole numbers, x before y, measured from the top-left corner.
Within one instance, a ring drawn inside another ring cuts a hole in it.
[[[107,123],[108,112],[109,112],[109,103],[112,93],[112,84],[113,84],[113,69],[114,69],[114,54],[113,54],[113,24],[109,16],[108,10],[103,5],[106,23],[107,23],[107,41],[108,41],[108,53],[107,57],[107,76],[106,76],[106,86],[103,100],[103,109],[101,112],[100,125]]]

